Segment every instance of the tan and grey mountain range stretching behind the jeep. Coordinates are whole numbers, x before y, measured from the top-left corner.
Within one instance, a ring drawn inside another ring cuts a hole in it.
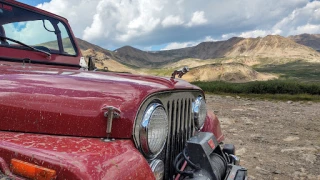
[[[231,82],[269,80],[283,75],[299,78],[301,73],[304,78],[318,80],[320,75],[318,34],[233,37],[165,51],[143,51],[131,46],[110,51],[76,40],[84,57],[92,57],[98,69],[109,71],[171,76],[174,70],[188,66],[190,72],[183,76],[187,81]],[[70,40],[64,39],[64,44],[65,50],[72,50]],[[45,45],[50,47],[51,42]]]

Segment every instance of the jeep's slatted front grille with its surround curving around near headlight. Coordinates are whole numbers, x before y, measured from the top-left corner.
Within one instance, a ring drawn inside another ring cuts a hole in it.
[[[147,106],[152,102],[161,102],[167,111],[169,131],[166,146],[155,157],[156,159],[162,159],[165,163],[165,179],[173,179],[175,175],[173,161],[183,150],[186,141],[195,132],[192,102],[199,95],[203,94],[198,90],[161,92],[148,97],[139,108],[133,133],[138,149],[140,149],[139,125]],[[147,160],[151,162],[150,159]]]

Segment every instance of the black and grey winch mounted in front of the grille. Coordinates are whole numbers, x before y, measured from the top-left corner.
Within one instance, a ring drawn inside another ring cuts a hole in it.
[[[212,133],[199,132],[187,141],[186,148],[176,157],[175,170],[184,180],[247,180],[247,169],[228,163],[227,154],[234,155],[234,152],[234,145],[226,144],[222,149]],[[186,168],[180,171],[188,157]]]

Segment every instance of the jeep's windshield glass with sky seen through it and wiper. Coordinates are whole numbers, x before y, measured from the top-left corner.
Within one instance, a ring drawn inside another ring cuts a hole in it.
[[[76,55],[65,24],[57,19],[0,3],[0,36],[53,54]],[[0,38],[0,46],[23,48]]]

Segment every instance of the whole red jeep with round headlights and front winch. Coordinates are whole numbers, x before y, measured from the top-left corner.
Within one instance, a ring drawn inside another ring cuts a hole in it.
[[[66,19],[0,0],[0,179],[246,179],[201,89],[91,67]]]

